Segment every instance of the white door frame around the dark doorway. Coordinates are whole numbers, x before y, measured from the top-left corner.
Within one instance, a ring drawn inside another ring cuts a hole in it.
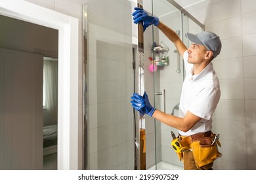
[[[58,29],[58,169],[78,169],[77,18],[20,0],[1,0],[0,14]]]

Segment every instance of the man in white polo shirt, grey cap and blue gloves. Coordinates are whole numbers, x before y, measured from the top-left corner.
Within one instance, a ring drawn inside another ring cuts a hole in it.
[[[132,106],[142,114],[148,114],[163,124],[179,129],[182,151],[177,152],[183,159],[184,169],[212,169],[213,161],[221,156],[211,132],[212,116],[221,96],[219,79],[211,61],[221,52],[221,41],[215,33],[202,32],[197,35],[186,33],[192,42],[186,48],[177,33],[142,8],[133,12],[135,24],[142,24],[144,30],[155,25],[170,41],[184,59],[186,78],[182,86],[179,117],[166,114],[152,107],[146,92],[143,96],[133,93]],[[217,137],[216,137],[217,138]],[[214,142],[213,142],[214,141]]]

